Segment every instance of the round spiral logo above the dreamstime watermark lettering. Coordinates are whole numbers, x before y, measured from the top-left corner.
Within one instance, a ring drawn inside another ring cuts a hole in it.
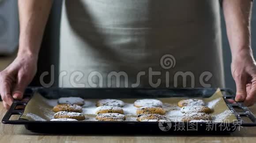
[[[173,55],[166,54],[160,59],[161,67],[164,69],[174,68],[176,64],[176,59]]]

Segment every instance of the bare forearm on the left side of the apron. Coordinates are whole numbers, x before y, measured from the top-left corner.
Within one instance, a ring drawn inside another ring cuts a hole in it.
[[[19,0],[19,52],[38,56],[53,0]]]

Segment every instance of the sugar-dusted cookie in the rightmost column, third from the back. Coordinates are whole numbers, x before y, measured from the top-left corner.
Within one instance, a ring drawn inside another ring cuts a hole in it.
[[[183,122],[189,122],[192,120],[212,120],[212,117],[210,114],[206,114],[206,113],[190,113],[190,114],[185,114],[181,118],[181,121]]]

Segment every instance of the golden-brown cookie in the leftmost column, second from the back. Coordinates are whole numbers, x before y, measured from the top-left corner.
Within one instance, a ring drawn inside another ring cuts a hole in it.
[[[83,109],[81,106],[76,105],[76,104],[59,104],[53,107],[54,112],[59,112],[59,111],[68,111],[68,112],[83,112]]]

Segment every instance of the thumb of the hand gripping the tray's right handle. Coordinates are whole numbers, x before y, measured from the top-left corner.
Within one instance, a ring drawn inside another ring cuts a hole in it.
[[[236,92],[236,98],[235,100],[237,102],[242,102],[245,100],[246,96],[247,96],[247,92],[246,92],[246,78],[244,78],[243,76],[241,76],[238,79],[235,79],[236,82],[236,88],[237,88],[237,92]]]

